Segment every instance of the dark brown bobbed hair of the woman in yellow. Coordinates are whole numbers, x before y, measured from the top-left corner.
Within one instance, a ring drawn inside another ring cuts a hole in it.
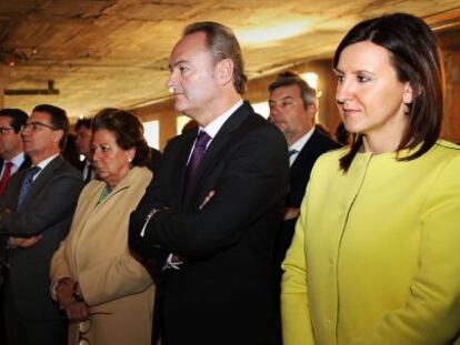
[[[414,160],[427,153],[438,141],[443,112],[443,70],[434,33],[421,19],[407,14],[387,14],[358,23],[340,42],[333,57],[337,68],[342,51],[354,43],[369,41],[387,49],[399,81],[409,82],[413,101],[408,104],[409,126],[397,151],[420,148],[399,160]],[[350,151],[340,160],[348,171],[362,144],[354,135]]]

